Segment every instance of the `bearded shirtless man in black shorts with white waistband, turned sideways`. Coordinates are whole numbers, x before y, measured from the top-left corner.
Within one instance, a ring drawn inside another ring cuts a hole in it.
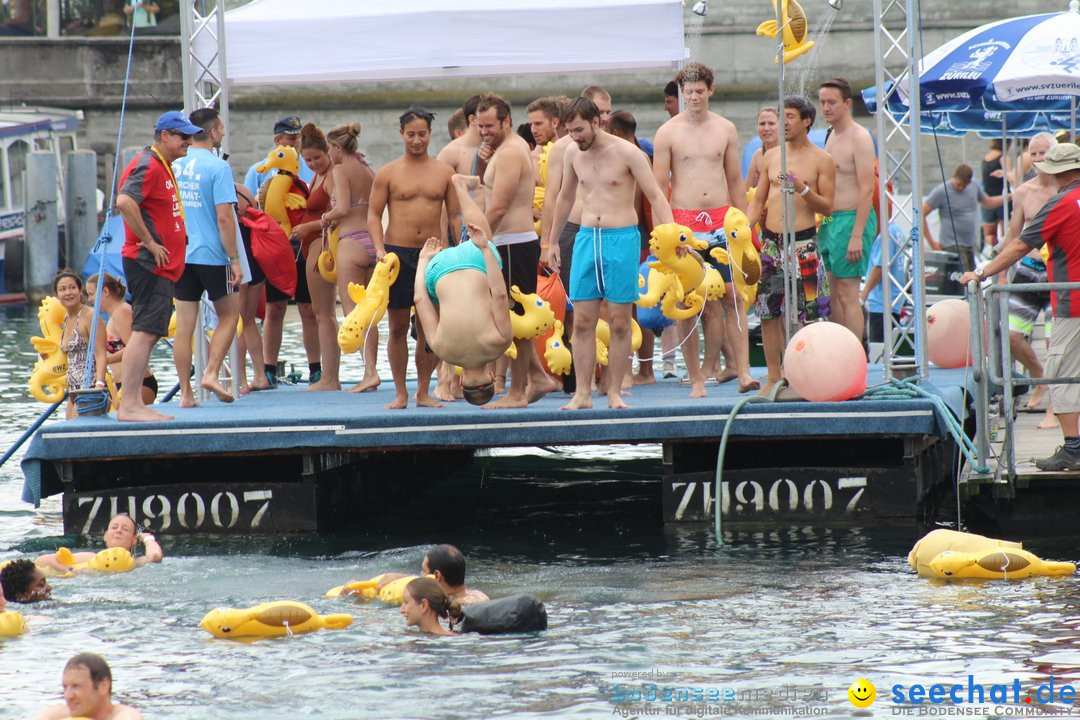
[[[510,288],[516,285],[528,295],[537,291],[540,239],[532,222],[536,182],[528,145],[514,133],[510,104],[498,95],[485,95],[476,106],[480,136],[491,149],[484,172],[485,213],[494,235],[491,241],[502,259],[502,277]],[[487,408],[528,407],[554,390],[555,383],[540,366],[531,339],[514,339],[517,357],[510,363],[510,392]]]

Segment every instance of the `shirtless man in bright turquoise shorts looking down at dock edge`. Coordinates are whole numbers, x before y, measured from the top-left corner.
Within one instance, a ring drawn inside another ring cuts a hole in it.
[[[593,406],[600,300],[607,300],[611,328],[608,407],[624,408],[621,385],[630,367],[630,311],[638,297],[637,263],[642,252],[634,193],[642,189],[652,205],[657,225],[672,222],[672,210],[652,177],[648,159],[626,140],[600,131],[600,112],[592,100],[579,97],[570,103],[563,112],[563,124],[573,145],[563,163],[553,236],[562,233],[570,209],[581,195],[581,229],[575,241],[577,259],[570,271],[569,293],[575,305],[577,390],[563,409]]]

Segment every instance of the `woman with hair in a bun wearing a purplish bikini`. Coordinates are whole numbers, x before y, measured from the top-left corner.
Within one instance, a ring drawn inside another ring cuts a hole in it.
[[[349,297],[349,283],[367,285],[375,263],[375,245],[367,233],[367,199],[372,194],[375,171],[356,150],[360,123],[338,125],[326,134],[329,158],[334,163],[334,191],[330,209],[323,213],[323,228],[338,229],[338,253],[335,258],[341,311],[348,315],[356,303]],[[336,324],[335,324],[336,325]],[[337,348],[337,331],[334,336]],[[364,378],[349,392],[368,392],[379,386],[376,361],[379,354],[379,331],[372,328],[364,342]]]

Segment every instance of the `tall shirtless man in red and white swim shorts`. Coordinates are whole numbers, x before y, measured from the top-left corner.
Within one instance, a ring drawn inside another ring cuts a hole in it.
[[[711,68],[701,63],[688,63],[675,76],[675,82],[683,92],[685,109],[657,132],[652,173],[660,187],[671,182],[675,221],[693,230],[697,237],[727,247],[724,217],[728,207],[746,210],[746,191],[739,168],[739,134],[730,120],[708,111],[708,98],[713,94]],[[679,321],[676,326],[679,337],[686,338],[683,357],[690,379],[690,397],[704,397],[705,373],[719,372],[725,336],[731,347],[734,371],[728,367],[717,380],[725,382],[739,378],[741,393],[759,386],[750,375],[746,308],[739,307],[741,298],[731,283],[731,268],[713,264],[723,275],[727,291],[723,300],[706,302],[702,310],[705,335],[702,364],[698,359],[698,318]]]

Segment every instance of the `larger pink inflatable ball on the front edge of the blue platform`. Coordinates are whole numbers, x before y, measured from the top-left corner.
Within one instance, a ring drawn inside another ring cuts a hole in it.
[[[866,351],[839,323],[812,323],[792,336],[784,377],[811,403],[839,403],[866,391]]]

